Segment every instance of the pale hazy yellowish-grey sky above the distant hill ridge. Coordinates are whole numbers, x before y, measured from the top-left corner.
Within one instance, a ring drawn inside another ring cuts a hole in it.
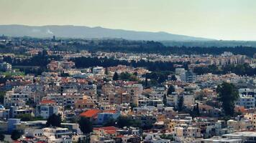
[[[0,0],[0,24],[103,26],[256,40],[256,0]]]

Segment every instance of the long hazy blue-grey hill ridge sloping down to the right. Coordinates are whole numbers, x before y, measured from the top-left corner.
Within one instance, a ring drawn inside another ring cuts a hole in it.
[[[153,41],[209,41],[200,37],[169,34],[163,31],[129,31],[122,29],[106,29],[102,27],[88,26],[24,26],[24,25],[0,25],[0,34],[6,36],[32,36],[47,38],[55,35],[61,38],[122,38],[129,40],[153,40]]]

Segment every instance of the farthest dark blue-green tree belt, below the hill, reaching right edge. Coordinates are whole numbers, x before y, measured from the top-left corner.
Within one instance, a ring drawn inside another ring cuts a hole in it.
[[[181,44],[182,45],[182,44]],[[192,45],[192,44],[191,44]],[[146,54],[213,54],[219,55],[224,51],[252,57],[256,48],[252,46],[165,46],[158,41],[128,41],[124,39],[106,39],[101,41],[74,42],[68,45],[76,50],[146,53]]]

